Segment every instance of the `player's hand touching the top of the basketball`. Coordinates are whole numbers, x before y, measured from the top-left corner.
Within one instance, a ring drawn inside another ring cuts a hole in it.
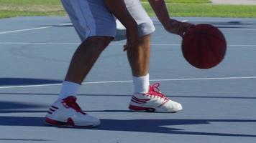
[[[194,24],[170,19],[166,24],[164,24],[164,26],[170,33],[183,36],[188,29],[194,26]]]

